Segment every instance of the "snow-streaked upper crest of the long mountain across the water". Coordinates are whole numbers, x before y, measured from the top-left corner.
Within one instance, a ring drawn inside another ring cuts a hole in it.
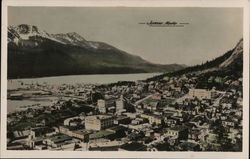
[[[42,42],[46,41],[46,39],[64,45],[72,45],[93,50],[116,49],[115,47],[104,42],[87,41],[76,32],[49,34],[40,27],[29,24],[20,24],[8,27],[8,43],[14,43],[17,46],[37,47]]]

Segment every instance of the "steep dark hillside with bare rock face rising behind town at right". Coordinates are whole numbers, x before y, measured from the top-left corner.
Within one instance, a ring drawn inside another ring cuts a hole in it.
[[[159,76],[152,77],[150,80],[161,80],[165,76],[180,76],[183,74],[194,74],[203,77],[206,76],[228,76],[232,79],[242,77],[243,72],[243,39],[241,39],[236,46],[217,57],[214,60],[207,61],[204,64],[187,67],[185,69],[174,71],[171,73],[165,73]]]

